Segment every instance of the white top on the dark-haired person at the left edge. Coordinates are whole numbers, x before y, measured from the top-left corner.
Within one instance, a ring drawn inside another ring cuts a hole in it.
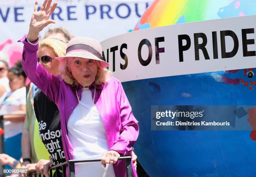
[[[26,87],[8,92],[0,109],[0,115],[12,114],[20,110],[20,105],[26,105]],[[11,122],[4,120],[5,138],[10,138],[22,133],[23,122]]]

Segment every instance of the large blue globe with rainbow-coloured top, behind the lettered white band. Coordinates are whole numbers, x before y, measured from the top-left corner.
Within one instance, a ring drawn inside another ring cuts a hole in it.
[[[134,30],[256,14],[255,0],[155,0]],[[153,131],[151,105],[230,105],[233,126],[256,119],[255,68],[123,82],[139,121],[134,147],[151,177],[256,177],[254,131]],[[242,105],[242,106],[239,106]],[[251,125],[253,126],[253,125]]]

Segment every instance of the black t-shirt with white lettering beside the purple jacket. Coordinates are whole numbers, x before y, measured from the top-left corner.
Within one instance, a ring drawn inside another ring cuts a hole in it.
[[[40,138],[51,155],[53,164],[65,162],[58,107],[43,92],[38,91],[34,97],[34,110]]]

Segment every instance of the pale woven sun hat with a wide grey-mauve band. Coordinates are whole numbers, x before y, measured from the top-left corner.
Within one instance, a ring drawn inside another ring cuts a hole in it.
[[[102,68],[108,67],[108,62],[102,60],[102,47],[100,42],[90,37],[74,37],[67,44],[66,55],[56,57],[61,61],[68,57],[80,57],[100,61]]]

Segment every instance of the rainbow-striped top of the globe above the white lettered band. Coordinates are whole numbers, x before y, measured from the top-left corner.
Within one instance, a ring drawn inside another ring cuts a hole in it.
[[[134,30],[253,15],[255,7],[253,0],[155,0],[141,16]]]

